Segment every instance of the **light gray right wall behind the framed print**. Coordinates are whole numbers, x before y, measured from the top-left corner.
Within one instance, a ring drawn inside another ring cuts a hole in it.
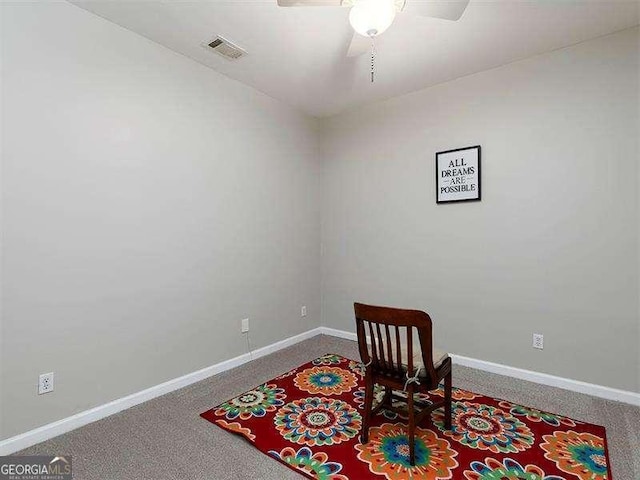
[[[323,323],[421,308],[449,351],[640,391],[638,35],[326,121]],[[476,144],[482,201],[436,205],[435,153]]]

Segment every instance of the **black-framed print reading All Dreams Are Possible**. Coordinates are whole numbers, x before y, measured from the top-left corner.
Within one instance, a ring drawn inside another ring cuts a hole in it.
[[[436,203],[480,200],[480,146],[436,153]]]

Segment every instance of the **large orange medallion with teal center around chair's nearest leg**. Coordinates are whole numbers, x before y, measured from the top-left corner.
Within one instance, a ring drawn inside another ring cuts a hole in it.
[[[458,466],[458,453],[449,442],[431,430],[416,428],[415,465],[409,462],[409,438],[402,423],[384,423],[372,427],[369,442],[355,446],[358,459],[369,464],[369,470],[388,480],[452,478]]]

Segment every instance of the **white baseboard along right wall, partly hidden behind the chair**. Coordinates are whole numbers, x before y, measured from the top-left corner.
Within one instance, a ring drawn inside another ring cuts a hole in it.
[[[346,332],[344,330],[336,330],[335,328],[320,327],[320,332],[324,335],[331,335],[347,340],[357,340],[354,332]],[[497,373],[512,378],[519,378],[529,382],[548,385],[550,387],[563,388],[572,392],[585,393],[594,397],[606,398],[607,400],[615,400],[618,402],[629,403],[631,405],[640,406],[640,393],[628,392],[617,388],[605,387],[594,383],[582,382],[570,378],[557,377],[547,373],[534,372],[522,368],[510,367],[500,363],[486,362],[475,358],[464,357],[462,355],[450,354],[451,360],[456,365],[476,368],[485,372]]]

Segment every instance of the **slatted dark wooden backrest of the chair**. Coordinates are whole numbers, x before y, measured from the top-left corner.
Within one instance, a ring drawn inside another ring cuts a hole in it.
[[[415,374],[414,335],[417,331],[426,376],[436,378],[433,366],[431,317],[420,310],[353,304],[360,357],[373,372],[399,381]],[[415,331],[414,331],[415,329]],[[404,348],[403,348],[404,347]],[[404,350],[404,362],[402,352]],[[406,367],[403,367],[403,363]]]

